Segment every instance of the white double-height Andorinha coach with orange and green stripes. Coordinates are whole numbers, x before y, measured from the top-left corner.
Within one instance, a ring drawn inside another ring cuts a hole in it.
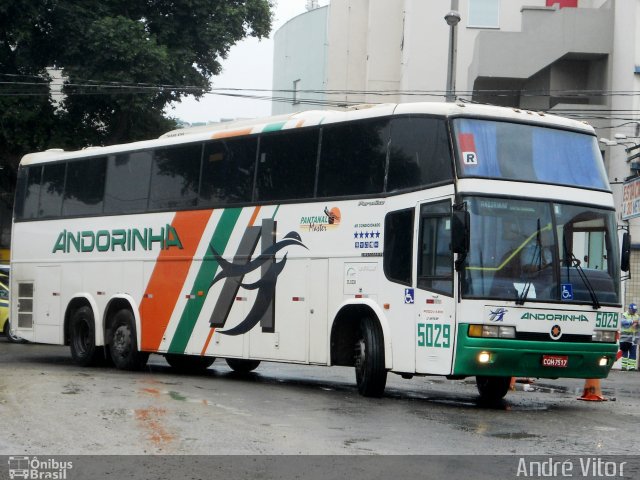
[[[364,396],[392,372],[475,377],[501,399],[511,377],[607,376],[618,238],[587,124],[308,111],[26,155],[11,318],[83,366],[338,365]]]

